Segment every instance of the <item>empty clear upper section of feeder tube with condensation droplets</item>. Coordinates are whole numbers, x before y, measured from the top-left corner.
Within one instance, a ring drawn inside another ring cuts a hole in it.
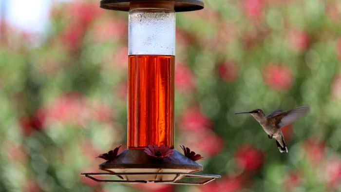
[[[129,55],[175,55],[175,12],[137,8],[129,11]]]

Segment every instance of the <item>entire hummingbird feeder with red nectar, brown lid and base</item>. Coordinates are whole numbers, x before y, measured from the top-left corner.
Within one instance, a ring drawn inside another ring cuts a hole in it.
[[[199,154],[174,150],[175,12],[204,8],[201,0],[102,0],[104,9],[129,11],[128,149],[98,157],[98,182],[206,184],[220,175],[196,173]],[[191,179],[189,180],[189,177]],[[114,178],[114,179],[113,179]]]

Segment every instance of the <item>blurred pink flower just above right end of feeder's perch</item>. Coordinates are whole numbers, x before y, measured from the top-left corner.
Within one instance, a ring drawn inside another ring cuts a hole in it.
[[[224,139],[210,130],[196,130],[183,132],[183,143],[192,146],[192,150],[213,156],[218,154],[224,147]]]

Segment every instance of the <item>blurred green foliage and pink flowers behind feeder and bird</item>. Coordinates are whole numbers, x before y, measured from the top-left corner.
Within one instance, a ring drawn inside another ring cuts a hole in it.
[[[341,191],[341,1],[204,1],[177,14],[175,143],[221,179],[81,177],[126,145],[128,15],[99,0],[0,0],[0,192]],[[300,105],[311,111],[282,129],[288,154],[234,115]]]

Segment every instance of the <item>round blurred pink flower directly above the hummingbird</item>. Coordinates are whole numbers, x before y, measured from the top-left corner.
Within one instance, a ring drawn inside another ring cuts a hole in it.
[[[269,64],[263,71],[265,83],[274,90],[288,90],[293,77],[289,67]]]

